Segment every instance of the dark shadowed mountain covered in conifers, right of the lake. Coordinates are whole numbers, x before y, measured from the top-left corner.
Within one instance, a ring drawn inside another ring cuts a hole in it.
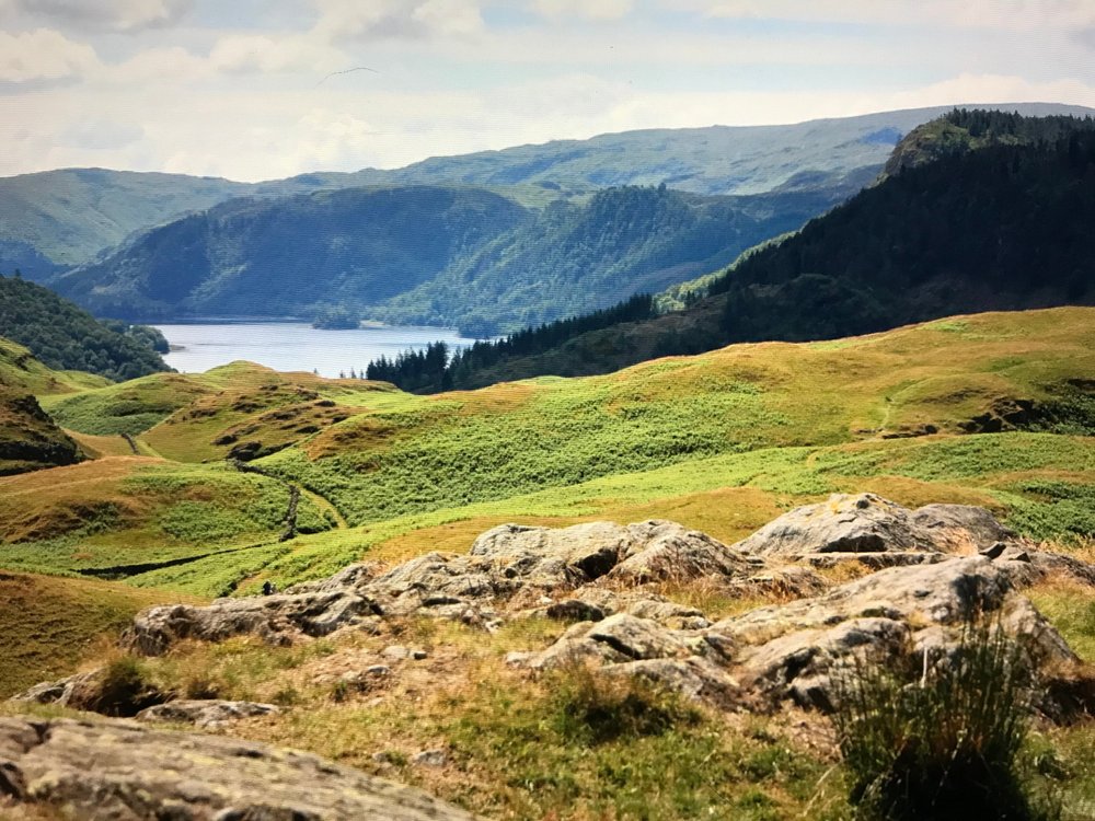
[[[908,158],[943,131],[952,135],[946,150],[900,164],[798,233],[744,255],[683,311],[479,343],[453,359],[443,381],[411,382],[437,391],[603,373],[733,342],[826,339],[958,312],[1095,303],[1087,230],[1095,122],[956,111],[910,134],[895,155]]]

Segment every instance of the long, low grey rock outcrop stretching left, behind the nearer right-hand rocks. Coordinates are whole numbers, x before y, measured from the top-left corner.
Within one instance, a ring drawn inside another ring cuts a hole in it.
[[[673,618],[681,615],[679,605],[649,594],[618,595],[598,582],[614,589],[700,577],[730,593],[804,594],[822,587],[809,569],[735,551],[673,522],[592,522],[563,529],[503,524],[476,539],[466,555],[427,553],[384,573],[374,564],[350,565],[284,594],[221,599],[207,608],[153,608],[137,616],[123,644],[136,652],[159,655],[184,638],[217,641],[246,633],[284,641],[297,634],[326,635],[381,614],[420,614],[493,627],[503,618],[503,606],[528,611],[545,595],[560,593],[603,605],[606,615],[648,602],[647,610]]]

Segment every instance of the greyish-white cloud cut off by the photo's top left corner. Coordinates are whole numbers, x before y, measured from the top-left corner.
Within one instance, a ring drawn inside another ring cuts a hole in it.
[[[62,27],[136,32],[177,23],[194,0],[7,0],[7,9]]]

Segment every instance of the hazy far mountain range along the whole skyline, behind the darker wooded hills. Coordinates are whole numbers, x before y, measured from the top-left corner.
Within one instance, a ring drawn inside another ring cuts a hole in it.
[[[1023,114],[1081,114],[1051,104]],[[776,189],[850,196],[886,162],[894,143],[944,108],[918,108],[789,126],[653,129],[558,140],[450,158],[404,169],[313,172],[266,183],[181,174],[65,169],[0,178],[0,269],[41,280],[90,262],[134,231],[233,197],[292,196],[370,185],[471,185],[522,205],[588,196],[623,185],[693,194]]]

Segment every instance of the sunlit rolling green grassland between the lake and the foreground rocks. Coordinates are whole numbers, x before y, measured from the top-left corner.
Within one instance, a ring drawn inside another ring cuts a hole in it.
[[[196,386],[189,403],[140,433],[139,444],[195,464],[105,460],[82,469],[88,482],[56,483],[41,505],[27,501],[38,498],[35,477],[0,485],[0,502],[20,499],[10,502],[10,544],[0,548],[0,563],[70,570],[137,564],[135,556],[198,556],[221,542],[272,542],[284,486],[249,475],[268,514],[226,530],[217,509],[238,509],[232,496],[243,477],[196,464],[223,459],[233,446],[216,442],[243,430],[250,432],[237,443],[296,442],[256,464],[306,489],[315,529],[350,527],[151,569],[132,583],[216,595],[250,589],[263,567],[288,583],[366,552],[403,558],[423,544],[462,550],[485,528],[514,519],[666,517],[734,540],[783,508],[833,490],[874,489],[908,504],[982,504],[1033,536],[1082,537],[1095,532],[1095,449],[1079,436],[1090,424],[1084,406],[1074,408],[1074,424],[1065,415],[1041,430],[955,433],[1008,400],[1052,404],[1067,380],[1090,378],[1092,316],[1090,309],[984,314],[433,397],[245,363],[198,377],[158,375],[50,407],[79,407],[79,424],[94,430],[114,424],[119,395],[136,391],[139,400],[147,391],[151,405],[170,395],[164,380],[185,380]],[[308,414],[318,416],[301,416]],[[332,415],[349,418],[332,424]],[[941,432],[883,438],[929,425]],[[312,426],[320,431],[309,432]],[[96,471],[112,475],[96,484]],[[158,489],[172,483],[203,488],[188,493],[206,494],[205,507]],[[96,499],[106,511],[99,532],[79,513],[66,523],[61,511],[99,510]]]

